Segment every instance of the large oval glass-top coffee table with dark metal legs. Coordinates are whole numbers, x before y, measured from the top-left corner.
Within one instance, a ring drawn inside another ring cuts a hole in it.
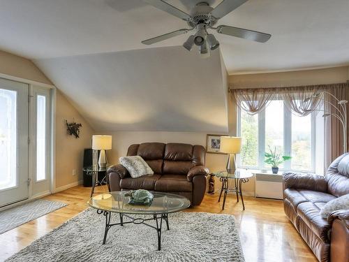
[[[124,224],[144,224],[154,228],[158,234],[158,250],[161,249],[161,227],[163,221],[166,222],[167,229],[170,230],[168,223],[168,214],[179,212],[189,208],[191,201],[184,196],[168,194],[165,192],[154,192],[154,199],[150,205],[131,205],[128,204],[130,196],[125,196],[129,191],[115,191],[106,194],[100,194],[89,199],[89,205],[96,208],[98,214],[105,216],[105,233],[103,245],[107,239],[107,233],[112,226],[124,226]],[[110,223],[112,213],[119,214],[119,223]],[[149,218],[132,217],[134,214],[149,215]],[[155,225],[147,223],[154,220]]]

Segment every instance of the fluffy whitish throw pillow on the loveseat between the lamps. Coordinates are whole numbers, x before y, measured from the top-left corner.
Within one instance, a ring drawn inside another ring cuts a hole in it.
[[[154,175],[154,171],[151,170],[142,157],[120,157],[119,161],[128,170],[132,178],[142,177],[142,175]]]

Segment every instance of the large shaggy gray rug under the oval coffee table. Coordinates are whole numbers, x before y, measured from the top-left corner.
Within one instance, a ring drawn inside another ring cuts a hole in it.
[[[89,208],[6,261],[244,261],[232,215],[179,212],[168,218],[161,251],[155,229],[135,224],[112,226],[102,245],[105,218]],[[117,214],[112,220],[119,221]]]

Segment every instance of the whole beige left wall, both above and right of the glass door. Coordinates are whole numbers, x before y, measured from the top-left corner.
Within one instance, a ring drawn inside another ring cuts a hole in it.
[[[0,74],[15,78],[41,82],[52,85],[52,82],[29,59],[0,51]],[[78,182],[82,179],[82,154],[84,147],[91,146],[93,130],[84,118],[69,103],[66,97],[57,90],[56,101],[56,188]],[[82,123],[81,137],[76,139],[66,133],[64,119]],[[73,169],[76,175],[73,176]]]

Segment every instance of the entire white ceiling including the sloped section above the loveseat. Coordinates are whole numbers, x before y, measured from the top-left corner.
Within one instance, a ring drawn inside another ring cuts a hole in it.
[[[188,13],[202,0],[166,1]],[[187,27],[142,0],[0,0],[0,50],[33,59],[95,129],[225,132],[224,65],[229,74],[348,65],[348,10],[348,0],[249,0],[218,24],[270,41],[216,34],[221,49],[205,60],[180,47],[188,35],[142,45]]]

